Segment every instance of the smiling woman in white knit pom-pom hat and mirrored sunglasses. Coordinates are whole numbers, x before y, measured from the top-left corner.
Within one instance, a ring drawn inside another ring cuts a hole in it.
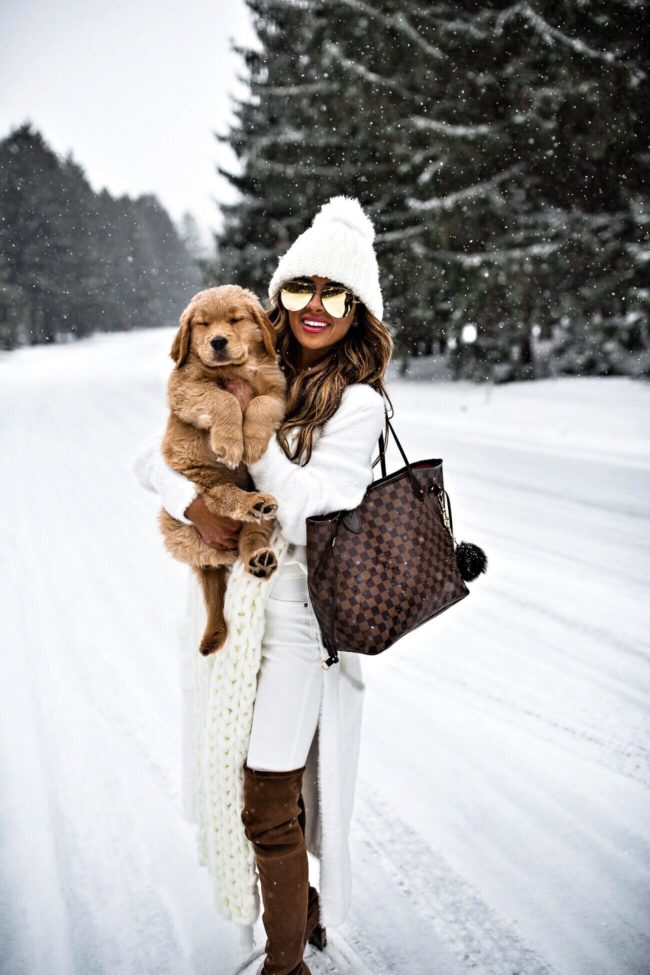
[[[257,975],[309,975],[303,961],[307,942],[324,947],[325,927],[341,923],[349,906],[347,837],[364,685],[357,654],[342,653],[340,664],[327,666],[307,588],[305,518],[356,507],[373,480],[372,457],[385,418],[383,379],[393,348],[381,322],[373,239],[372,224],[358,201],[335,197],[281,258],[271,279],[269,315],[287,374],[287,413],[266,453],[249,471],[256,489],[278,501],[271,538],[278,569],[270,580],[254,580],[243,578],[240,563],[235,564],[226,594],[228,641],[211,664],[214,671],[222,669],[218,679],[214,672],[208,678],[208,690],[206,681],[199,688],[200,679],[194,688],[197,700],[205,701],[210,688],[217,695],[230,695],[203,709],[200,728],[192,734],[200,753],[198,778],[212,776],[211,783],[195,786],[194,813],[200,821],[197,806],[202,807],[208,793],[212,798],[219,791],[241,796],[241,827],[257,867],[267,934],[266,957]],[[246,390],[232,392],[245,411]],[[211,515],[195,497],[194,485],[164,463],[159,447],[156,438],[136,460],[144,486],[158,491],[164,507],[193,523],[206,542],[235,548],[241,522]],[[256,638],[260,606],[261,633]],[[195,608],[195,617],[197,612]],[[195,625],[200,629],[201,621]],[[257,650],[251,666],[259,662],[249,712],[246,677],[240,673],[247,666],[242,661],[251,656],[247,648]],[[197,672],[205,664],[195,660]],[[228,725],[224,733],[224,721],[235,712],[243,714],[239,731]],[[238,735],[244,746],[239,753],[232,745]],[[222,772],[215,772],[215,763],[226,752]],[[207,766],[201,764],[206,753]],[[243,763],[237,760],[242,754]],[[224,783],[233,765],[235,779],[228,793]],[[200,855],[212,868],[222,912],[250,924],[259,901],[246,916],[235,889],[246,865],[235,871],[236,881],[232,869],[228,873],[222,866],[223,860],[229,868],[236,861],[236,843],[231,842],[224,857],[214,856],[228,832],[224,821],[231,805],[224,800],[212,833],[203,830]],[[236,832],[230,825],[230,832]],[[307,850],[320,859],[320,900],[308,884]]]

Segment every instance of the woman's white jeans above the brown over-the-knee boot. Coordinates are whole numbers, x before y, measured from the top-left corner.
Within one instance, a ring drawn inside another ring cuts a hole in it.
[[[246,762],[265,772],[289,772],[307,762],[324,674],[318,623],[308,602],[307,576],[299,565],[278,569],[266,606]]]

